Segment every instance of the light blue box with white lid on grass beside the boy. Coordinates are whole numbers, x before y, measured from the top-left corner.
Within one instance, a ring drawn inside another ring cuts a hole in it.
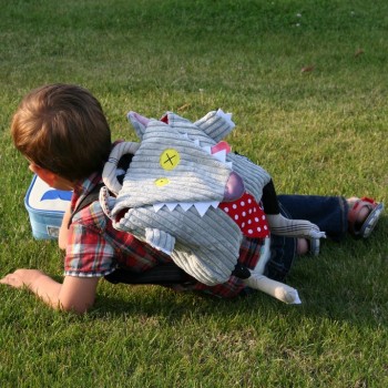
[[[34,175],[24,197],[32,235],[37,239],[58,238],[62,218],[72,192],[50,187]]]

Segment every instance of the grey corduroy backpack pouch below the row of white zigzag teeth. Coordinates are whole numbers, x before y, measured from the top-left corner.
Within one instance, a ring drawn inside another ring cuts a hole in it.
[[[130,208],[113,226],[170,254],[176,265],[207,285],[227,282],[237,263],[243,238],[237,224],[226,213],[213,207],[204,216],[200,216],[194,207],[183,211],[176,206],[173,212],[163,207],[157,213],[152,206]],[[167,252],[171,247],[169,239],[165,246],[147,239],[150,228],[153,233],[162,229],[174,236],[174,249]]]

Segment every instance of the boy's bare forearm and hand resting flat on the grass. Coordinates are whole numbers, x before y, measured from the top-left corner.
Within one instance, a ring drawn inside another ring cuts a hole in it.
[[[38,269],[17,269],[0,283],[27,287],[52,308],[82,314],[93,306],[99,278],[65,276],[61,284]]]

